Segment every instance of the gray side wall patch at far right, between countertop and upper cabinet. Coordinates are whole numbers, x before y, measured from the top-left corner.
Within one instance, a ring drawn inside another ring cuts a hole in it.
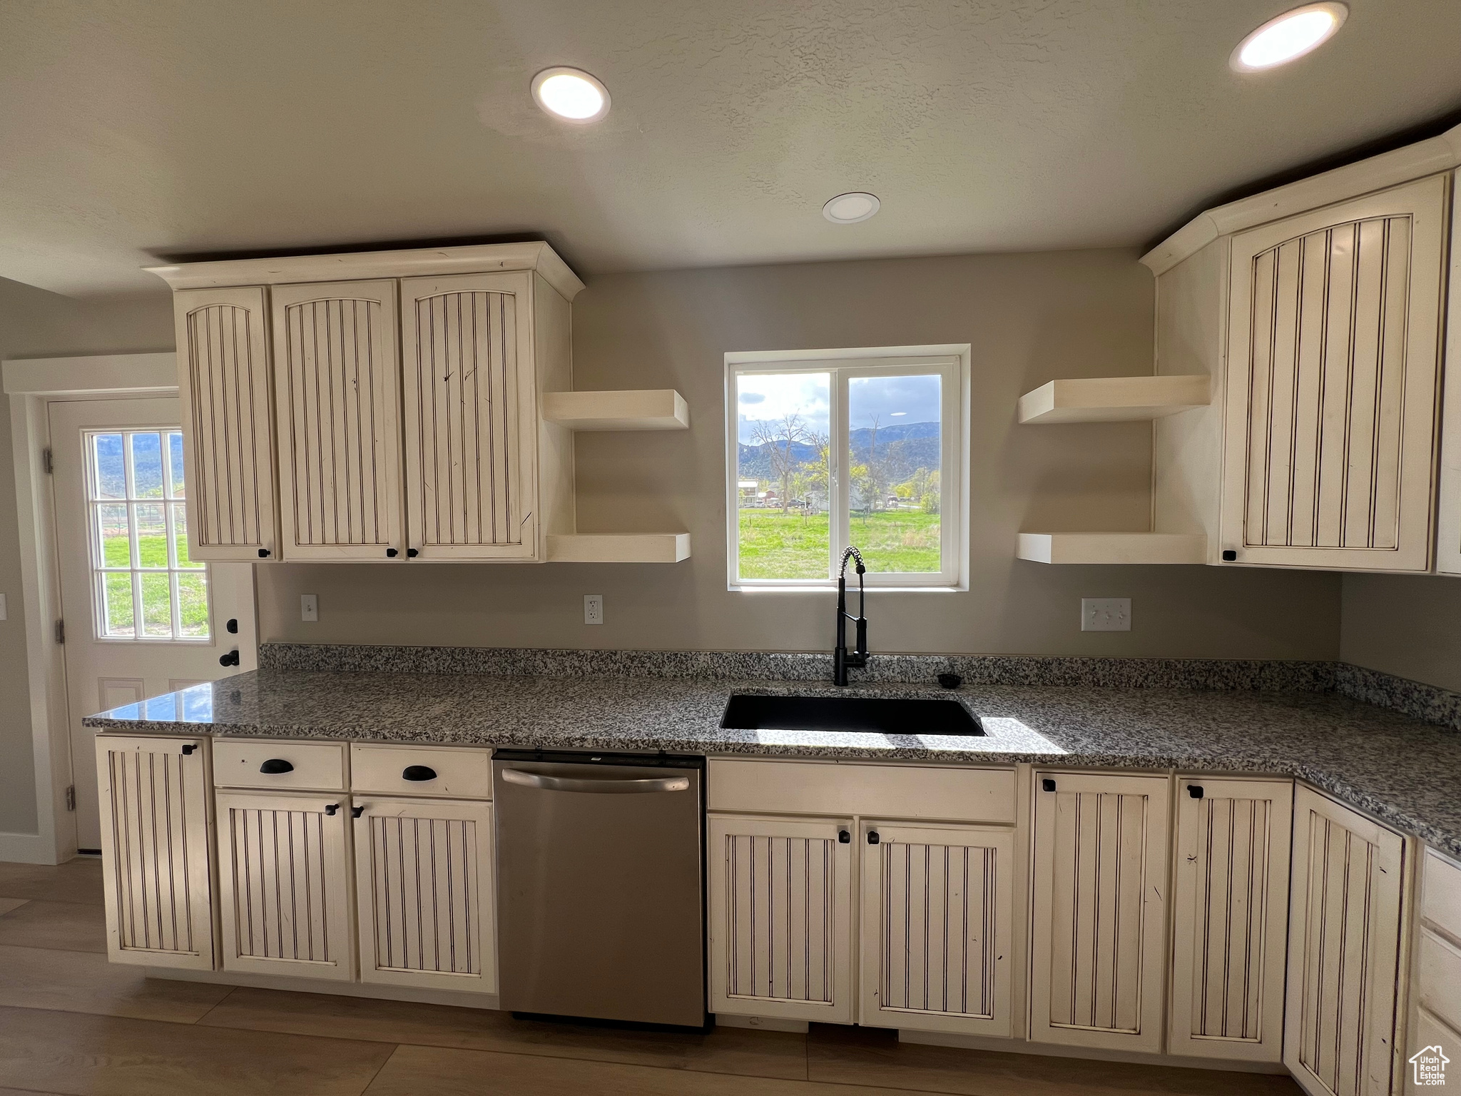
[[[1346,574],[1340,658],[1461,693],[1461,577]]]

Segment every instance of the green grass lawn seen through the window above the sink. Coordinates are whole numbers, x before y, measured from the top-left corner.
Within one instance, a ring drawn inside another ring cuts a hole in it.
[[[741,510],[742,579],[825,579],[827,514]],[[939,570],[938,514],[888,510],[853,514],[849,528],[869,571]]]

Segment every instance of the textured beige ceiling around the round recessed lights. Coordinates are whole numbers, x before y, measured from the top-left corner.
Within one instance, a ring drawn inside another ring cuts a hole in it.
[[[1143,246],[1461,108],[1458,0],[1350,0],[1315,54],[1232,73],[1292,3],[4,0],[0,276],[491,234],[586,275]],[[609,117],[542,115],[549,64]],[[825,222],[844,190],[882,212]]]

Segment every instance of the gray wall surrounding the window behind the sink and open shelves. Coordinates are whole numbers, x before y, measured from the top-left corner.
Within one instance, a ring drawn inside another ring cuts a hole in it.
[[[1153,285],[1126,251],[961,256],[617,275],[574,302],[580,389],[675,387],[691,430],[577,443],[583,532],[688,529],[676,566],[272,564],[260,637],[297,642],[817,650],[831,593],[729,593],[726,351],[973,343],[967,593],[878,592],[888,652],[1335,658],[1335,574],[1049,567],[1015,533],[1147,529],[1147,424],[1020,427],[1052,377],[1151,371]],[[300,595],[320,620],[300,621]],[[606,623],[586,627],[583,595]],[[1081,633],[1081,596],[1131,596],[1131,633]]]

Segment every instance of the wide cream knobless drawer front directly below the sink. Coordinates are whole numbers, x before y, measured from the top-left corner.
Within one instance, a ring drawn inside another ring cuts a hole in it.
[[[1014,769],[712,760],[712,811],[1014,823]]]

